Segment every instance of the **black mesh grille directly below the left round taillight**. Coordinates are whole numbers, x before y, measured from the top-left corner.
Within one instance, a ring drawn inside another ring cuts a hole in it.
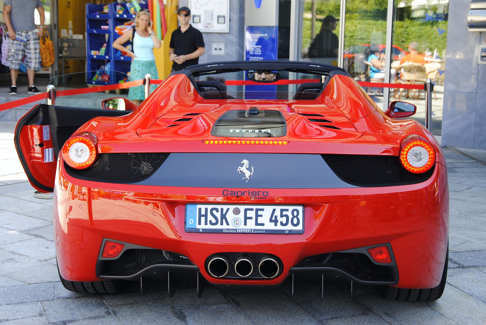
[[[96,164],[77,170],[64,164],[73,177],[107,183],[136,183],[150,177],[168,153],[100,154]]]

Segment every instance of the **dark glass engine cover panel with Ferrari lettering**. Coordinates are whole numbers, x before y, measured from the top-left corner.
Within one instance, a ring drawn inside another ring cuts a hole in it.
[[[216,137],[283,137],[287,132],[280,111],[260,110],[250,115],[247,110],[231,110],[223,114],[211,131]]]

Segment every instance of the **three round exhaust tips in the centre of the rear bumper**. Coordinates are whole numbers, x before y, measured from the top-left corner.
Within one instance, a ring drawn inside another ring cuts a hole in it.
[[[229,260],[224,254],[215,254],[208,263],[208,272],[214,277],[223,277],[228,274]],[[266,279],[276,277],[280,272],[277,257],[266,254],[260,258],[258,264],[260,275]],[[248,255],[241,255],[235,261],[235,272],[238,276],[247,277],[253,273],[253,259]]]

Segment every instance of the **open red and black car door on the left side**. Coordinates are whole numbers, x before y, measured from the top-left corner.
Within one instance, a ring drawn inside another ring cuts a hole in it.
[[[18,121],[14,137],[18,158],[32,186],[45,193],[54,190],[59,151],[85,122],[98,116],[130,113],[112,109],[36,105]]]

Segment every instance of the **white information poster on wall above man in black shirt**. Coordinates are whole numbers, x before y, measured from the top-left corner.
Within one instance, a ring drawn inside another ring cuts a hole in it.
[[[191,0],[191,25],[203,33],[229,33],[229,0]]]

